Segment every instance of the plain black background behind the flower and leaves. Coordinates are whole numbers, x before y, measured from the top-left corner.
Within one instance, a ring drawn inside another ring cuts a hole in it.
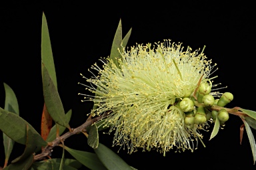
[[[91,76],[87,72],[91,64],[109,55],[119,19],[123,35],[133,28],[127,46],[163,39],[183,42],[183,46],[191,46],[193,50],[206,45],[206,56],[219,68],[214,74],[219,76],[215,83],[227,86],[221,92],[234,95],[228,107],[256,110],[255,9],[248,1],[154,1],[150,5],[130,1],[9,1],[1,3],[0,9],[0,107],[4,107],[5,82],[17,96],[20,116],[38,131],[43,110],[42,11],[49,25],[59,94],[65,111],[73,110],[72,128],[85,122],[92,106],[89,102],[81,103],[82,97],[77,95],[87,93],[77,84],[85,82],[79,74]],[[212,125],[208,132],[203,132],[207,147],[199,143],[193,153],[169,151],[163,157],[156,151],[129,155],[121,149],[119,155],[137,169],[255,169],[246,133],[242,145],[239,144],[241,124],[237,116],[230,116],[225,128],[209,141]],[[111,135],[100,134],[99,140],[117,152],[119,147],[111,147],[111,138]],[[92,151],[83,135],[70,137],[65,144],[73,149]],[[14,149],[11,159],[21,155],[24,147],[16,143]],[[53,157],[60,157],[60,154],[61,148],[54,148]],[[70,157],[68,153],[66,156]],[[3,145],[0,145],[0,166],[3,162]]]

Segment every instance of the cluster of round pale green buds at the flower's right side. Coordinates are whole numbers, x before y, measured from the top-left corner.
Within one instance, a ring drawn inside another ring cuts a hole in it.
[[[233,100],[233,94],[225,92],[221,98],[215,99],[211,94],[211,81],[202,82],[197,89],[195,96],[191,98],[183,98],[179,102],[179,107],[185,113],[184,123],[187,128],[194,128],[194,125],[201,125],[208,120],[215,122],[219,119],[221,125],[229,120],[229,113],[224,108],[217,111],[213,110],[212,106],[224,107]]]

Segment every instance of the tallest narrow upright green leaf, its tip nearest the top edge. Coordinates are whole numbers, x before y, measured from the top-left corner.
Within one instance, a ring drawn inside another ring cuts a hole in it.
[[[42,63],[47,67],[49,75],[53,80],[53,84],[57,88],[57,78],[56,78],[56,72],[55,72],[55,66],[54,66],[54,60],[53,60],[53,52],[51,50],[51,40],[49,36],[49,30],[48,30],[45,13],[43,13],[43,17],[42,17],[41,59],[42,59]]]

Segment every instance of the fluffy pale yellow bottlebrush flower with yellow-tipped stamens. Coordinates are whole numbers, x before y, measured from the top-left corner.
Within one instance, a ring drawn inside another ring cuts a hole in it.
[[[91,67],[99,76],[86,78],[91,86],[83,84],[95,96],[84,94],[83,101],[95,103],[93,116],[109,114],[105,126],[109,133],[115,131],[113,145],[127,147],[129,153],[156,148],[164,155],[173,148],[195,149],[193,141],[202,137],[199,129],[209,125],[188,128],[185,113],[175,104],[192,96],[200,81],[211,82],[216,64],[211,66],[203,51],[164,41],[123,49],[118,66],[109,58],[101,62],[103,68]]]

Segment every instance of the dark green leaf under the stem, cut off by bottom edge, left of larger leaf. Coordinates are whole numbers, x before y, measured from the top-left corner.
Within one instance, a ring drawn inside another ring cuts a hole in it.
[[[101,163],[99,158],[95,153],[90,153],[87,151],[78,151],[75,149],[71,149],[67,146],[64,146],[66,151],[68,151],[77,161],[81,162],[85,167],[88,167],[89,169],[95,169],[95,170],[105,170],[106,168]]]

